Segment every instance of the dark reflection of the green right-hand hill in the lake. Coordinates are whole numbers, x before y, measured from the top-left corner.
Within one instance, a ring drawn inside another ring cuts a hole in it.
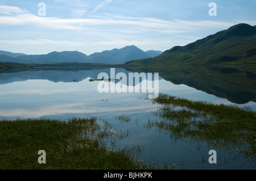
[[[129,68],[133,71],[159,72],[176,85],[184,84],[236,104],[256,102],[256,67],[170,66]]]

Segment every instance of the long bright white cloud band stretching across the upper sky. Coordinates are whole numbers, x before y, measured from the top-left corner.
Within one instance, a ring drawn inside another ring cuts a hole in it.
[[[108,1],[110,2],[110,0]],[[60,30],[90,30],[94,32],[119,32],[138,33],[158,32],[158,33],[184,33],[196,32],[200,28],[228,28],[235,23],[214,22],[205,20],[162,20],[157,18],[109,16],[62,19],[57,17],[40,17],[30,14],[18,7],[5,7],[1,9],[6,15],[0,16],[0,25],[26,26],[39,28],[52,28]],[[16,13],[12,14],[11,13]],[[85,11],[79,11],[84,14]]]

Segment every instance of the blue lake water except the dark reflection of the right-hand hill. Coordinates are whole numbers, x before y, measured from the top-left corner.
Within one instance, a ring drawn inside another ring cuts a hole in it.
[[[106,120],[115,131],[124,133],[114,148],[108,143],[110,149],[137,148],[138,159],[155,166],[168,163],[169,167],[172,165],[177,169],[256,169],[255,159],[250,157],[244,158],[230,151],[216,149],[208,146],[207,142],[189,138],[174,140],[170,134],[159,132],[155,127],[147,127],[148,121],[161,119],[153,113],[158,105],[146,99],[150,93],[100,93],[97,89],[100,82],[90,82],[89,79],[97,79],[97,75],[102,72],[110,75],[110,69],[1,73],[0,119],[46,117],[65,120],[75,116],[93,116],[98,118],[99,123]],[[115,69],[115,74],[128,75],[129,72]],[[116,85],[118,82],[109,83]],[[246,106],[256,111],[256,103],[252,100],[237,104],[198,90],[198,87],[175,85],[162,77],[159,77],[159,92],[191,100]],[[117,119],[120,115],[130,116],[130,119],[121,121]],[[208,162],[209,150],[216,150],[217,163]]]

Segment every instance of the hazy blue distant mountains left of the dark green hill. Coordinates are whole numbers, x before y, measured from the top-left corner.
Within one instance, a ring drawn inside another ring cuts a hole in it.
[[[124,64],[127,61],[138,60],[158,56],[163,52],[158,50],[142,49],[134,45],[121,49],[105,50],[87,56],[77,51],[51,52],[48,54],[27,55],[23,53],[11,53],[1,50],[0,62],[15,62],[19,64],[59,64],[65,62],[78,63],[102,63],[102,64]]]

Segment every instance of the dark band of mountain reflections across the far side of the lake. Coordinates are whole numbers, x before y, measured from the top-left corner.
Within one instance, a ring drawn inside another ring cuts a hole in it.
[[[0,84],[26,81],[27,79],[47,79],[52,82],[79,82],[86,78],[97,79],[105,72],[110,77],[110,68],[67,68],[52,70],[16,71],[0,73]],[[170,66],[170,67],[130,67],[115,68],[115,74],[129,72],[159,73],[159,80],[165,79],[175,85],[187,85],[236,104],[256,102],[256,67],[218,66]],[[143,81],[142,79],[139,82]],[[118,81],[115,81],[116,83]]]

